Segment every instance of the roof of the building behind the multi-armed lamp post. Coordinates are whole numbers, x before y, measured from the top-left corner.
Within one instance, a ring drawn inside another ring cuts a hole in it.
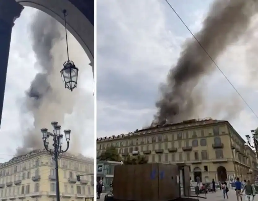
[[[40,154],[40,153],[49,155],[49,153],[48,153],[45,149],[36,149],[36,150],[33,150],[33,151],[28,152],[28,153],[25,154],[25,155],[15,156],[15,157],[13,157],[11,160],[9,160],[9,161],[7,161],[7,162],[5,162],[5,163],[0,163],[0,167],[5,166],[5,165],[9,165],[9,164],[11,164],[11,163],[14,163],[14,162],[16,162],[16,161],[25,159],[25,158],[30,157],[30,156],[33,156],[33,155],[38,155],[38,154]],[[87,161],[87,162],[90,162],[90,163],[93,163],[93,164],[94,164],[94,159],[93,159],[93,158],[85,157],[85,156],[83,156],[82,154],[76,156],[76,155],[70,154],[70,153],[68,152],[68,153],[63,153],[63,154],[61,154],[61,156],[66,156],[66,157],[69,157],[69,158],[74,158],[74,159],[79,159],[79,160],[85,160],[85,161]]]

